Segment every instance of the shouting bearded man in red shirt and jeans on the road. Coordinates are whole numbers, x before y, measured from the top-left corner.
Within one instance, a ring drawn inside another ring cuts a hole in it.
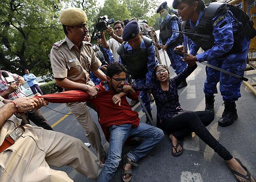
[[[129,136],[143,137],[145,140],[136,148],[124,156],[123,180],[132,179],[132,165],[138,166],[140,158],[147,155],[160,141],[163,131],[146,123],[139,123],[138,113],[132,111],[126,97],[136,100],[139,93],[132,89],[131,85],[125,85],[127,81],[126,69],[118,62],[111,63],[107,67],[107,82],[101,82],[96,98],[79,90],[42,96],[49,102],[77,102],[87,101],[93,103],[98,111],[98,121],[102,127],[106,139],[109,141],[109,155],[105,166],[98,176],[97,182],[110,182],[117,171],[121,161],[122,147]],[[123,96],[117,93],[124,92]]]

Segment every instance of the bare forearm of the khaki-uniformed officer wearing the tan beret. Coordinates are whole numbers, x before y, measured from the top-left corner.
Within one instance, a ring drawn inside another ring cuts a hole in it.
[[[65,89],[73,89],[73,90],[88,90],[88,85],[83,83],[77,83],[69,80],[68,78],[55,78],[56,84]]]

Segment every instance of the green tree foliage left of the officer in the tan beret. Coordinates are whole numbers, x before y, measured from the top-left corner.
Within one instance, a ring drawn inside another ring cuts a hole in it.
[[[48,54],[62,32],[58,0],[1,0],[1,69],[23,74],[23,69],[49,70]]]

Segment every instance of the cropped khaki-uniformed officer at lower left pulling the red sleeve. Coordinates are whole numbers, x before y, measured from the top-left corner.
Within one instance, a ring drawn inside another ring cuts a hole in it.
[[[0,97],[0,182],[73,182],[65,172],[49,165],[68,165],[96,179],[102,170],[100,160],[81,140],[29,124],[22,126],[21,119],[13,115],[44,105],[44,100],[34,97]]]

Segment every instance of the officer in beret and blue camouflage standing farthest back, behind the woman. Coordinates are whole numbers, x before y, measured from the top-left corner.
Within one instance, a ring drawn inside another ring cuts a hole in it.
[[[164,18],[160,24],[160,34],[157,46],[166,50],[175,73],[180,74],[187,67],[187,63],[181,59],[181,56],[173,54],[173,49],[183,43],[183,35],[172,32],[173,30],[179,31],[178,18],[176,15],[169,15],[169,7],[167,6],[166,1],[158,7],[156,12],[160,13],[160,16]],[[181,82],[178,89],[187,85],[186,80],[184,80]]]

